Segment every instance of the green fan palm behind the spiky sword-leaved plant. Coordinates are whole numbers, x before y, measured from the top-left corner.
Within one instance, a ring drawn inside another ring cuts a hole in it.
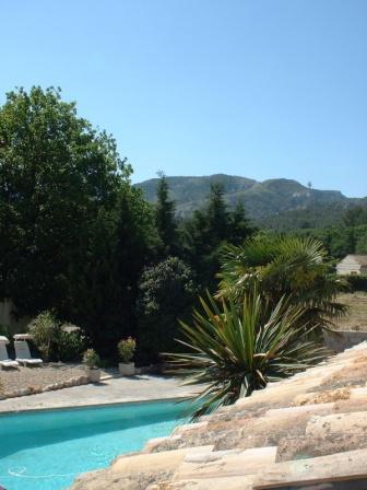
[[[229,245],[216,296],[240,301],[256,284],[270,304],[286,295],[292,305],[305,308],[308,325],[330,328],[347,308],[336,301],[344,284],[328,273],[324,255],[321,242],[310,237],[267,236]]]

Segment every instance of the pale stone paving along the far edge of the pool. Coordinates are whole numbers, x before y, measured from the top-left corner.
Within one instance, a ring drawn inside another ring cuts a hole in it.
[[[153,375],[111,377],[96,384],[1,400],[0,413],[185,398],[194,389],[200,388],[182,386],[181,381],[175,377]]]

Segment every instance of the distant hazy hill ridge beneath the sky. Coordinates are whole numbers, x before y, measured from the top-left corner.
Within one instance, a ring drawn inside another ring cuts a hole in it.
[[[158,178],[137,184],[145,198],[154,202]],[[225,188],[225,199],[230,207],[238,200],[245,203],[248,214],[267,228],[318,226],[341,219],[350,206],[364,201],[345,197],[339,190],[318,190],[303,186],[296,180],[274,178],[257,182],[251,178],[216,174],[204,177],[167,177],[170,198],[176,201],[178,215],[187,217],[205,203],[212,183]],[[274,222],[279,222],[279,226]]]

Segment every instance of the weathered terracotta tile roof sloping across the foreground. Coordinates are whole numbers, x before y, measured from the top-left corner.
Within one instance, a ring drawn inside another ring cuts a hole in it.
[[[363,342],[149,441],[141,453],[81,476],[72,489],[366,489],[366,380]],[[351,478],[366,482],[344,487]]]

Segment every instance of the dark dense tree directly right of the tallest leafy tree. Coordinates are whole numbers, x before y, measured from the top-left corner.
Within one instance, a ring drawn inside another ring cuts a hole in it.
[[[93,226],[87,262],[70,298],[72,320],[83,325],[105,358],[122,337],[135,335],[135,301],[143,268],[155,259],[153,210],[140,189],[126,183],[116,209],[100,210]],[[83,307],[80,307],[83,305]]]

